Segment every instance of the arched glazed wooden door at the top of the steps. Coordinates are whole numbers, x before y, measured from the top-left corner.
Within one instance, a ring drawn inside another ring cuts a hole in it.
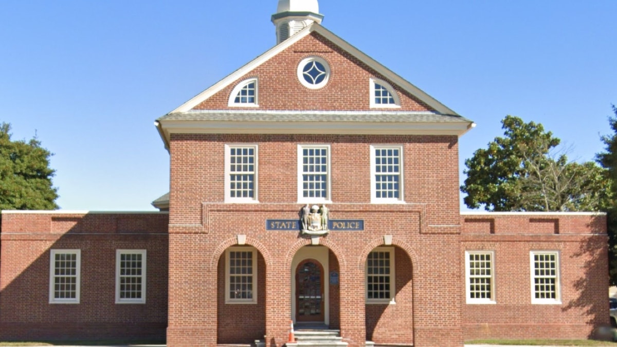
[[[325,283],[323,265],[304,259],[295,271],[296,322],[324,322]]]

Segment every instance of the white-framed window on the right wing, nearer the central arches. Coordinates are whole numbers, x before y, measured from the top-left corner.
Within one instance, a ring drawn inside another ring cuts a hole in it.
[[[465,285],[468,304],[495,303],[495,252],[465,252]]]

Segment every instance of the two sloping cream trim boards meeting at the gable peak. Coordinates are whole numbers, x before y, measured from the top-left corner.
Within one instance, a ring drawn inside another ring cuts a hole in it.
[[[375,59],[367,56],[365,53],[355,48],[351,44],[347,43],[347,41],[335,35],[332,31],[329,31],[328,29],[322,27],[318,23],[310,24],[306,28],[296,33],[296,35],[293,35],[290,38],[288,38],[288,40],[285,40],[281,42],[280,44],[277,44],[276,46],[274,46],[267,52],[263,53],[261,56],[253,59],[248,64],[242,66],[240,69],[234,71],[233,73],[223,78],[219,82],[210,86],[210,88],[208,88],[207,90],[202,91],[201,93],[197,94],[197,96],[194,96],[194,98],[190,99],[189,101],[184,102],[184,104],[174,109],[172,112],[170,112],[170,114],[191,111],[195,106],[199,105],[201,102],[210,98],[210,96],[212,96],[213,94],[217,93],[218,91],[223,90],[223,88],[230,85],[231,83],[236,82],[239,78],[246,75],[246,73],[255,69],[255,67],[258,67],[259,65],[268,61],[268,59],[270,59],[271,57],[276,56],[276,54],[284,51],[286,48],[289,48],[289,46],[291,46],[292,44],[296,43],[297,41],[302,40],[302,38],[304,38],[307,35],[310,35],[310,33],[313,33],[313,32],[318,33],[321,36],[325,37],[327,40],[336,44],[344,51],[348,52],[352,56],[356,57],[358,60],[362,61],[363,63],[365,63],[372,69],[376,70],[376,72],[380,73],[381,75],[391,80],[396,85],[399,85],[401,88],[403,88],[408,93],[418,98],[420,101],[432,107],[434,110],[439,112],[439,114],[458,115],[456,112],[452,111],[452,109],[450,109],[449,107],[437,101],[429,94],[424,93],[424,91],[420,90],[420,88],[416,87],[415,85],[412,85],[412,83],[407,82],[407,80],[400,77],[396,73],[392,72],[392,70],[388,69],[382,64],[379,64],[379,62],[375,61]]]

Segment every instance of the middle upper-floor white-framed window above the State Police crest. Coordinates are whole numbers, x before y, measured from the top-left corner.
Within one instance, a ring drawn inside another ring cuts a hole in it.
[[[330,202],[329,145],[298,145],[298,202]]]

